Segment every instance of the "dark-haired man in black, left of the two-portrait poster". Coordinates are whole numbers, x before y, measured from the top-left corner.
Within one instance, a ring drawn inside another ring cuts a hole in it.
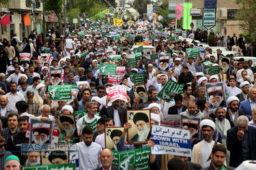
[[[20,132],[10,137],[6,146],[6,150],[14,151],[12,154],[20,158],[20,165],[25,165],[27,161],[27,154],[25,152],[20,152],[20,143],[29,143],[29,138],[25,136],[27,133],[28,121],[28,116],[20,116],[20,118],[18,118],[18,128],[20,129]]]

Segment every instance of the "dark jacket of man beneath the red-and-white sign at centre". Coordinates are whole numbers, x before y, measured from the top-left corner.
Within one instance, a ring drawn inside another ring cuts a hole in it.
[[[118,114],[119,114],[119,118],[121,121],[122,126],[124,126],[124,124],[126,123],[126,107],[122,107],[120,106],[118,108]],[[106,115],[106,117],[111,118],[114,120],[114,108],[113,106],[109,106],[109,107],[105,107],[103,106],[102,109],[100,110],[100,116],[102,115]]]

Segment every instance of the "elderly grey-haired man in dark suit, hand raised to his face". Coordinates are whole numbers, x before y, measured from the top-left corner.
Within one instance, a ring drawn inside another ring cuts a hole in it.
[[[238,117],[238,126],[227,131],[227,149],[231,167],[238,167],[244,160],[256,160],[256,129],[248,126],[246,116]]]

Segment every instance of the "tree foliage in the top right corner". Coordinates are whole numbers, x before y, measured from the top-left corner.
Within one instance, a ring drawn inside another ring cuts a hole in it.
[[[255,0],[237,0],[240,5],[237,19],[240,20],[240,29],[245,34],[253,35],[256,33],[256,3]]]

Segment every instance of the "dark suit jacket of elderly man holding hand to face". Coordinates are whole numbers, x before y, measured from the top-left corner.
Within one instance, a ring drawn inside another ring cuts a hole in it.
[[[256,128],[253,126],[248,126],[248,138],[249,138],[249,146],[251,151],[252,160],[256,160]],[[229,166],[238,167],[242,163],[242,141],[238,139],[238,126],[234,126],[233,128],[227,131],[227,149],[230,151],[230,162]]]

